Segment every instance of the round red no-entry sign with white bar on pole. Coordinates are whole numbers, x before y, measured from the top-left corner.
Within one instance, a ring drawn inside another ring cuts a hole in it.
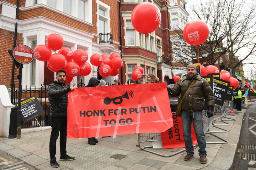
[[[12,51],[14,59],[21,64],[28,64],[34,59],[33,50],[26,45],[18,45]]]

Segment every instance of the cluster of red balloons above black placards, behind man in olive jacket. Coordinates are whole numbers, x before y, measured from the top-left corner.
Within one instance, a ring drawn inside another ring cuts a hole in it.
[[[230,86],[233,86],[236,89],[239,86],[239,81],[231,77],[230,73],[227,70],[222,70],[219,72],[219,69],[213,65],[206,66],[203,71],[201,67],[201,75],[205,76],[207,74],[220,73],[220,79],[230,82]]]

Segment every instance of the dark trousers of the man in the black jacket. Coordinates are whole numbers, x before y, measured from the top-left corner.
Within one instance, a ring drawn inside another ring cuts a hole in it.
[[[67,128],[67,118],[66,117],[58,117],[58,118],[50,118],[50,123],[52,126],[52,132],[50,135],[50,159],[56,159],[56,141],[60,134],[60,156],[66,155],[66,128]]]

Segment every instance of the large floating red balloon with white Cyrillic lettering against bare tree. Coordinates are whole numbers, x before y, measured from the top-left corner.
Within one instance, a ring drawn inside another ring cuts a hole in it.
[[[203,21],[192,21],[187,23],[183,29],[183,37],[190,45],[203,44],[209,36],[209,27]]]

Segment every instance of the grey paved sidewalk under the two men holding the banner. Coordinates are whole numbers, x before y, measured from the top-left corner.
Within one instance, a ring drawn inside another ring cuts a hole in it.
[[[249,105],[249,104],[248,104]],[[215,126],[210,126],[215,136],[225,139],[228,143],[207,144],[207,164],[199,163],[198,148],[195,148],[194,158],[190,162],[184,161],[186,152],[178,153],[172,157],[161,157],[159,155],[143,151],[136,147],[137,134],[120,135],[116,138],[99,137],[95,146],[87,144],[87,139],[68,139],[67,153],[75,157],[73,161],[59,161],[59,147],[57,148],[57,162],[62,170],[226,170],[233,165],[237,145],[239,142],[242,118],[245,111],[236,112],[237,117],[223,118],[223,121],[216,121]],[[236,111],[236,110],[235,110]],[[234,120],[232,120],[234,119]],[[218,125],[218,126],[217,126]],[[228,130],[222,131],[219,128]],[[48,128],[48,129],[47,129]],[[21,139],[0,138],[0,151],[17,158],[39,170],[53,169],[49,165],[49,137],[50,127],[22,129]],[[222,142],[218,137],[206,134],[207,142]],[[58,141],[59,142],[59,141]],[[149,145],[149,143],[141,143]],[[57,143],[58,146],[58,143]],[[184,149],[184,148],[179,148]],[[162,154],[174,153],[179,149],[156,149]],[[152,148],[154,151],[154,149]],[[0,157],[1,158],[1,157]],[[7,160],[8,161],[8,160]],[[8,169],[13,166],[0,166],[0,169]]]

